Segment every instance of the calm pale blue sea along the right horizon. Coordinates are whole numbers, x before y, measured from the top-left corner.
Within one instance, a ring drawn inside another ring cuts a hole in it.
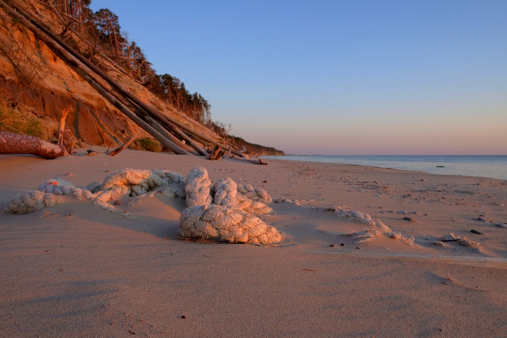
[[[431,174],[466,175],[507,179],[507,156],[263,156],[266,159],[358,164],[424,171]]]

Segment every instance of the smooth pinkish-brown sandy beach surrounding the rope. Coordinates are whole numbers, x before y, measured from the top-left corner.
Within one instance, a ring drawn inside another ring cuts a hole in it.
[[[97,148],[103,151],[101,148]],[[47,178],[76,186],[124,169],[184,176],[204,166],[212,181],[261,186],[261,216],[280,243],[177,240],[185,202],[123,198],[123,217],[65,198],[31,214],[0,213],[0,335],[16,337],[483,336],[507,332],[507,181],[372,167],[124,151],[116,157],[42,160],[0,156],[0,205]],[[267,182],[263,182],[267,181]],[[358,243],[365,228],[327,207],[381,219],[387,237]],[[404,220],[410,217],[415,222]],[[479,217],[485,221],[478,220]],[[477,230],[482,235],[471,233]],[[483,253],[441,236],[480,242]]]

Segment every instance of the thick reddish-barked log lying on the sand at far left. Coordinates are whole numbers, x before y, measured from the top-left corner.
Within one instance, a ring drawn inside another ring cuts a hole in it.
[[[0,154],[30,154],[45,159],[71,155],[63,144],[53,144],[39,137],[6,131],[0,131]]]

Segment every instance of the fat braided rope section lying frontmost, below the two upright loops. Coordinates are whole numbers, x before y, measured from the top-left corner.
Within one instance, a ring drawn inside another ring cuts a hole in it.
[[[256,216],[223,205],[192,206],[179,218],[183,237],[220,238],[229,242],[261,244],[281,240],[280,233]]]

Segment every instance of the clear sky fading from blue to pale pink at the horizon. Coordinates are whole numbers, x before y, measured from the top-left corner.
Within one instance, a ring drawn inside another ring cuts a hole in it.
[[[92,0],[231,134],[287,154],[507,155],[507,1]]]

